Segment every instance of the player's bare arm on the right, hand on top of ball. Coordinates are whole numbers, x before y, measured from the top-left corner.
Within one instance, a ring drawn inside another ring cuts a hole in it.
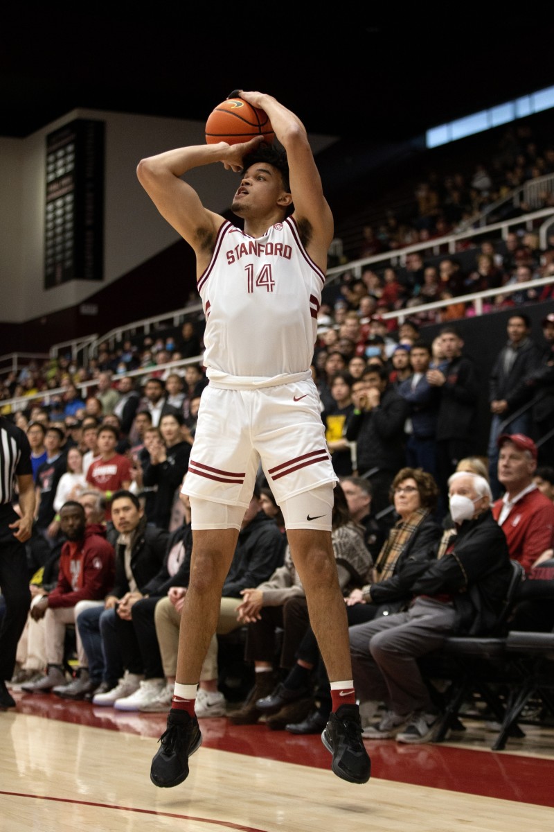
[[[302,243],[312,260],[326,270],[327,250],[334,233],[333,216],[323,195],[306,128],[298,116],[266,93],[241,90],[239,95],[267,113],[277,139],[287,151],[294,218]]]

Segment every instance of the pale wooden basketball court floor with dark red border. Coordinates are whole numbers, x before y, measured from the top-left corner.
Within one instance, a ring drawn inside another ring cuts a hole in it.
[[[483,722],[463,741],[366,740],[366,785],[330,769],[318,735],[201,720],[189,778],[150,782],[163,714],[13,693],[0,711],[2,832],[542,832],[554,830],[554,730],[490,750]]]

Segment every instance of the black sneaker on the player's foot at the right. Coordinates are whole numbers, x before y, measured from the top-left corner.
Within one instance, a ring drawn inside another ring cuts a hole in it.
[[[329,716],[321,740],[333,755],[331,768],[350,783],[367,783],[371,760],[361,738],[360,711],[357,705],[341,705]]]

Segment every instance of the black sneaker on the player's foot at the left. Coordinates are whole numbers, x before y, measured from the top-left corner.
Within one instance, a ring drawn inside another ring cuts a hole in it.
[[[161,788],[179,785],[189,776],[189,756],[202,745],[199,721],[187,711],[169,711],[167,730],[150,767],[150,780]]]

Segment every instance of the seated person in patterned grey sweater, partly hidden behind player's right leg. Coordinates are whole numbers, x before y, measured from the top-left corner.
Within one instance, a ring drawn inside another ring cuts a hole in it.
[[[363,542],[360,527],[351,520],[340,484],[336,485],[334,491],[331,542],[341,588],[343,592],[348,592],[350,587],[360,586],[364,582],[370,571],[371,557]],[[267,714],[270,727],[284,728],[288,722],[306,716],[311,705],[309,672],[306,677],[302,677],[302,683],[293,688],[283,688],[281,683],[276,686],[277,676],[273,671],[277,628],[283,628],[284,631],[280,667],[290,671],[296,666],[297,647],[309,627],[305,593],[289,548],[285,552],[282,567],[277,568],[267,581],[257,587],[243,589],[241,595],[243,600],[237,607],[237,617],[241,624],[248,624],[244,657],[255,668],[256,684],[243,706],[238,711],[233,711],[229,720],[234,725],[248,725]],[[297,601],[299,603],[295,603]],[[329,681],[326,680],[326,688],[328,687]],[[291,707],[292,703],[294,706]],[[323,727],[325,726],[321,730]]]

